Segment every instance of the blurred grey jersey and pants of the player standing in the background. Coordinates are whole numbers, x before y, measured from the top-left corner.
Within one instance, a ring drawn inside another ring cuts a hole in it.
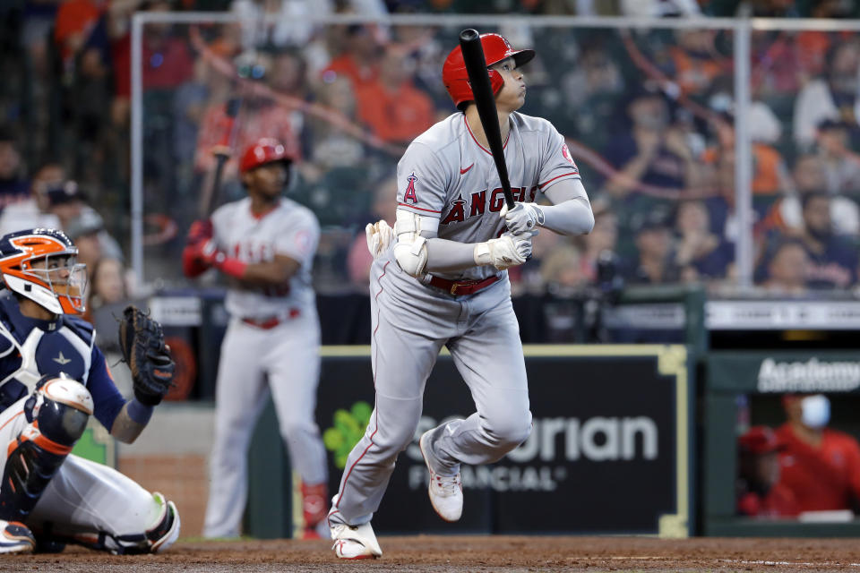
[[[320,227],[310,210],[288,199],[258,218],[245,198],[222,206],[211,220],[215,244],[230,257],[253,263],[271,261],[277,253],[301,263],[288,284],[232,286],[225,301],[230,323],[221,344],[203,535],[233,537],[247,499],[247,448],[270,391],[280,435],[302,481],[327,479],[314,422],[320,325],[311,266]]]

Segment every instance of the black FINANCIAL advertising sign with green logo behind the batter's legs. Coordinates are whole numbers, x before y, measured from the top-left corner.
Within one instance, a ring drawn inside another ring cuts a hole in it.
[[[374,388],[369,350],[329,347],[323,355],[317,420],[334,492],[370,419]],[[448,524],[427,500],[417,440],[475,406],[451,357],[439,357],[374,530],[688,535],[684,346],[527,346],[526,367],[531,435],[493,465],[462,466],[463,517]]]

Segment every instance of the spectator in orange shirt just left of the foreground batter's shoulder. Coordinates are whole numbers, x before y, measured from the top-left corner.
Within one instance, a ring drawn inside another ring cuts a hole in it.
[[[416,89],[411,72],[407,55],[389,46],[379,80],[356,90],[358,119],[385,141],[411,141],[434,123],[433,100]]]

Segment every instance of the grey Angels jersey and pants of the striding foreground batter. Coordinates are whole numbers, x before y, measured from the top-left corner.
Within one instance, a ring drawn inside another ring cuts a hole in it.
[[[580,177],[552,124],[513,113],[510,126],[504,158],[516,201],[535,201],[551,184]],[[439,218],[440,238],[480,243],[505,230],[493,156],[477,143],[461,113],[409,145],[397,178],[398,209]],[[418,437],[424,385],[443,346],[469,385],[477,412],[433,431],[433,458],[453,475],[460,463],[495,462],[529,436],[529,390],[507,272],[480,266],[436,276],[498,280],[474,294],[456,295],[403,272],[391,249],[374,261],[376,404],[364,437],[349,454],[330,524],[360,525],[379,508],[394,460]]]

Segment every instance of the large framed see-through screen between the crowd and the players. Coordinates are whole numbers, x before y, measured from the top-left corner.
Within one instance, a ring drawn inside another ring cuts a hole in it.
[[[567,138],[597,214],[588,237],[539,235],[516,284],[575,289],[598,279],[601,252],[614,252],[626,284],[731,287],[735,241],[749,233],[765,292],[856,285],[856,34],[753,30],[753,226],[739,228],[732,30],[508,22],[476,28],[537,50],[520,111]],[[144,23],[144,280],[182,283],[177,261],[203,214],[213,149],[232,150],[216,202],[232,201],[244,196],[236,156],[272,136],[298,158],[288,196],[323,225],[317,288],[366,288],[363,227],[392,222],[400,155],[455,111],[441,66],[466,27]],[[230,98],[241,98],[232,130]]]

